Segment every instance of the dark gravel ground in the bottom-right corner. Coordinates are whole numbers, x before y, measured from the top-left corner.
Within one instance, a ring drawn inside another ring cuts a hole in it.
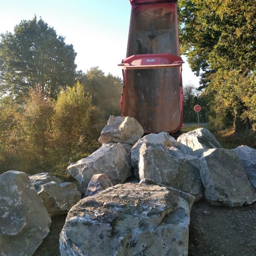
[[[256,256],[256,203],[231,208],[199,201],[190,218],[189,256]]]

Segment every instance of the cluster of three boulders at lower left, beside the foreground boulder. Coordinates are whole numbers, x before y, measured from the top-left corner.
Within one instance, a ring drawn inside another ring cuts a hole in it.
[[[32,255],[49,233],[51,217],[67,214],[80,199],[75,184],[46,172],[0,175],[0,255]]]

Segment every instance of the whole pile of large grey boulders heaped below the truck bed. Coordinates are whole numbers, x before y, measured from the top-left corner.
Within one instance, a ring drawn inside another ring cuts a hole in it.
[[[74,184],[47,173],[0,175],[0,255],[32,254],[49,232],[49,216],[68,212],[62,256],[186,256],[195,201],[228,207],[256,201],[256,149],[224,149],[206,128],[177,140],[167,132],[143,134],[136,119],[110,116],[102,146],[67,168],[81,200]]]

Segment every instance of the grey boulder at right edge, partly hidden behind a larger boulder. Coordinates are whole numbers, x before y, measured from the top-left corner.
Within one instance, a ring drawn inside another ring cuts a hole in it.
[[[248,179],[256,190],[256,149],[241,145],[232,150],[238,154]]]

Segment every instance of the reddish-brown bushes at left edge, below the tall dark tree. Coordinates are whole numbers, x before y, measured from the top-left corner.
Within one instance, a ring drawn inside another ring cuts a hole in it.
[[[29,90],[23,105],[13,99],[1,99],[0,165],[1,171],[44,171],[51,166],[52,99],[40,88]]]

